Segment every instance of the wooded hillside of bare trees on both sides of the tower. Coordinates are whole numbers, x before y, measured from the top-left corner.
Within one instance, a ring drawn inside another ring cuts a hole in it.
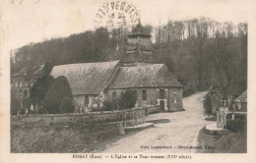
[[[178,79],[184,79],[184,86],[224,88],[231,80],[247,79],[247,24],[235,26],[198,18],[168,20],[165,25],[147,28],[156,42],[157,62],[166,64]],[[44,62],[61,65],[120,59],[127,32],[125,27],[101,27],[26,45],[12,55],[11,71]]]

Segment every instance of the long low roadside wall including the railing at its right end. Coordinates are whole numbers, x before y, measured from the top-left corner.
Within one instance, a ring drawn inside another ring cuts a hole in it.
[[[24,126],[84,126],[85,124],[118,123],[137,126],[145,123],[145,110],[133,108],[115,111],[91,112],[85,114],[41,114],[11,117],[12,125]],[[152,108],[151,108],[152,109]]]

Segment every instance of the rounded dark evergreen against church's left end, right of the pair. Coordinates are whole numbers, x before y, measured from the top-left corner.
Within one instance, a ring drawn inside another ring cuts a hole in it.
[[[48,113],[60,113],[60,104],[64,97],[72,99],[72,91],[68,80],[60,76],[54,80],[44,96],[43,105]]]

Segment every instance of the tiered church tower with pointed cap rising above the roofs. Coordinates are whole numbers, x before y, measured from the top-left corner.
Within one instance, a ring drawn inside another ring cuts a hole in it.
[[[136,66],[155,63],[150,31],[140,23],[128,34],[123,66]]]

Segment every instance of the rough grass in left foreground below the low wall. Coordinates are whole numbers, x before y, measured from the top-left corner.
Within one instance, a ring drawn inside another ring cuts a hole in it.
[[[85,128],[12,127],[11,152],[76,153],[103,150],[106,141],[120,137],[116,125]]]

